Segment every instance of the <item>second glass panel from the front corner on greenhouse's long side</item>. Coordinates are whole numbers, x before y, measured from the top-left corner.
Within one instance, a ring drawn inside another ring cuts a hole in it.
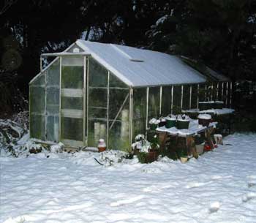
[[[159,118],[160,88],[149,88],[148,92],[148,121],[151,118]]]

